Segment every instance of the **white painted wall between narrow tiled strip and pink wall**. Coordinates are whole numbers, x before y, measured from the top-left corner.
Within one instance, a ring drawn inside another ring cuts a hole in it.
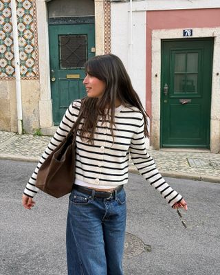
[[[135,91],[146,106],[146,12],[133,12],[130,45],[130,11],[128,3],[111,6],[111,52],[122,59]],[[130,55],[130,47],[132,54]],[[131,67],[130,69],[130,58]]]

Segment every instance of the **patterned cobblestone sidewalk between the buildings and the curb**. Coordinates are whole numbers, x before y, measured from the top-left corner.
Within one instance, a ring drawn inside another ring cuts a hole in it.
[[[0,131],[0,159],[38,162],[50,139],[48,136],[34,137]],[[148,153],[155,159],[157,168],[164,177],[220,183],[220,154],[175,149],[149,149]],[[133,164],[130,164],[130,171],[138,173]]]

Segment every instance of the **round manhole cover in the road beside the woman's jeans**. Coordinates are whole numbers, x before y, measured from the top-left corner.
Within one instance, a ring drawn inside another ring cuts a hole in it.
[[[142,239],[131,233],[125,233],[124,259],[130,259],[146,251],[151,252],[151,245],[146,245]]]

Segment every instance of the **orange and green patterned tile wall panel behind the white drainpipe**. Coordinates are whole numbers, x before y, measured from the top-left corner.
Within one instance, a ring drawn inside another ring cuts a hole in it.
[[[36,0],[17,0],[21,78],[39,78]],[[10,0],[0,0],[0,79],[14,79],[14,45]]]

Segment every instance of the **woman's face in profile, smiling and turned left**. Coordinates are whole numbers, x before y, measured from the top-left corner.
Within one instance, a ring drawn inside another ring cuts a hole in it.
[[[101,98],[106,88],[104,81],[89,74],[86,75],[83,84],[89,98]]]

